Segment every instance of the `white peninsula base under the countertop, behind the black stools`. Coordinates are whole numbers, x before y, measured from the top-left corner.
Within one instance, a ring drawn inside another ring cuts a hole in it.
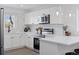
[[[79,48],[79,43],[64,45],[40,40],[40,55],[65,55],[67,52],[73,52],[76,48]]]

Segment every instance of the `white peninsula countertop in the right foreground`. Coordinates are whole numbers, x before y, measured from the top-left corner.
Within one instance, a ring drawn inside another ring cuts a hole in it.
[[[53,37],[41,38],[40,40],[64,45],[73,45],[79,43],[78,36],[53,36]]]

